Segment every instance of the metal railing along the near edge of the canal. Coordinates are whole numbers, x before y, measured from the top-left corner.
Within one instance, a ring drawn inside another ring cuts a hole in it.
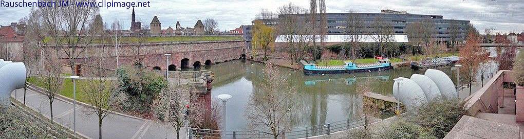
[[[374,113],[375,119],[378,121],[395,116],[396,107]],[[342,121],[335,121],[327,124],[313,125],[309,127],[294,128],[286,132],[282,131],[279,137],[285,138],[305,138],[320,135],[331,135],[334,132],[350,130],[364,125],[364,118],[346,119]],[[188,129],[189,138],[274,138],[274,136],[265,131],[220,131],[209,129]],[[223,134],[222,134],[223,133]],[[223,137],[222,137],[223,136]]]

